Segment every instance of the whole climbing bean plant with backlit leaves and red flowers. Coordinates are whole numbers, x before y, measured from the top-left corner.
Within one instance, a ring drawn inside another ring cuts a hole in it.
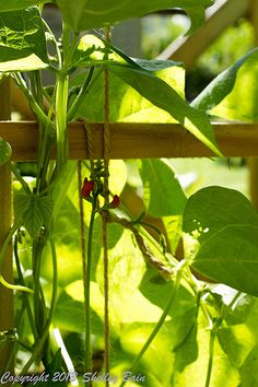
[[[257,49],[190,104],[184,63],[130,58],[113,45],[112,27],[180,8],[191,34],[212,0],[55,0],[60,37],[43,17],[49,2],[0,1],[1,80],[11,78],[38,125],[30,178],[0,141],[1,165],[13,175],[0,282],[15,301],[14,326],[0,332],[1,350],[12,343],[0,384],[257,386],[258,218],[248,199],[218,186],[189,197],[171,160],[94,160],[94,132],[89,138],[91,122],[177,121],[223,157],[210,115],[256,119]],[[77,120],[91,159],[78,163],[68,141],[68,122]],[[122,199],[129,185],[144,201],[137,215]],[[13,283],[2,273],[11,242]]]

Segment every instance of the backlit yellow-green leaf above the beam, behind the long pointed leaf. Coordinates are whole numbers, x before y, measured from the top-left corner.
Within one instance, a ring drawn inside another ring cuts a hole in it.
[[[154,72],[156,77],[164,80],[184,97],[185,70],[183,67],[173,61],[167,61],[166,66],[161,68],[160,64],[156,66],[156,62],[161,61],[144,61],[144,67],[152,69],[152,73]],[[77,115],[86,117],[92,121],[104,119],[104,73],[95,70],[94,81]],[[84,74],[77,77],[72,84],[79,85],[83,81],[83,77]],[[167,112],[153,105],[112,72],[109,73],[109,98],[113,102],[109,116],[113,122],[175,122],[175,119]]]

